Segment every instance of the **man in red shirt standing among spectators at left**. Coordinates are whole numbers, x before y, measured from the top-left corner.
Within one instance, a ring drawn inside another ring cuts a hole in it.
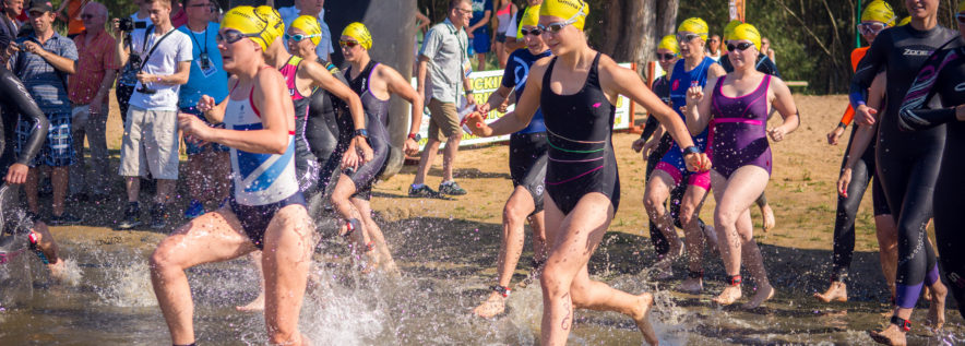
[[[81,12],[84,32],[74,37],[78,49],[78,73],[68,83],[70,102],[73,104],[71,140],[76,153],[76,162],[70,169],[70,192],[74,200],[94,201],[107,199],[111,180],[109,172],[110,154],[107,152],[108,93],[117,77],[119,65],[115,62],[114,47],[117,41],[107,31],[107,8],[99,2],[90,2]],[[87,191],[87,167],[84,163],[84,136],[91,145],[91,159],[94,169],[91,189]]]

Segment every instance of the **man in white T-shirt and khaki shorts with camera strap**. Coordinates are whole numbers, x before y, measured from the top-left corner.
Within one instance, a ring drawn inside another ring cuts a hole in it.
[[[148,171],[157,179],[151,228],[167,225],[165,203],[178,179],[178,92],[188,82],[193,58],[191,38],[171,26],[171,0],[144,1],[154,25],[134,31],[130,46],[123,44],[123,38],[115,45],[119,62],[127,63],[134,55],[143,61],[135,70],[138,85],[131,95],[121,143],[118,172],[127,180],[128,206],[118,225],[120,229],[141,225],[138,177],[145,177]],[[115,19],[115,29],[119,22]]]

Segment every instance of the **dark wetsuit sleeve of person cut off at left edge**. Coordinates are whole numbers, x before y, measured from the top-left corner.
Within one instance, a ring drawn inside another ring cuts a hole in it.
[[[15,109],[11,109],[13,111],[4,111],[5,116],[15,116],[19,112],[22,119],[33,122],[31,135],[16,158],[17,164],[29,165],[44,146],[50,123],[47,122],[47,117],[40,111],[40,107],[37,107],[34,98],[27,94],[26,87],[3,67],[0,67],[0,99],[3,100],[3,105],[15,105]]]

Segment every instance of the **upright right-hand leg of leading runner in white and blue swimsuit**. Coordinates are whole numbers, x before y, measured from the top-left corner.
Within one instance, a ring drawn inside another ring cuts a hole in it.
[[[272,344],[308,344],[298,332],[298,313],[311,265],[313,231],[308,212],[301,205],[289,205],[275,213],[265,231],[264,318]]]

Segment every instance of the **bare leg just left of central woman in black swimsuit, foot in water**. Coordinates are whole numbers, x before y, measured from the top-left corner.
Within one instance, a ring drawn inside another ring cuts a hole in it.
[[[502,211],[502,243],[496,263],[499,286],[509,288],[512,283],[513,272],[516,271],[520,256],[523,255],[523,244],[526,242],[523,222],[535,208],[533,196],[523,187],[516,187],[505,203]],[[481,318],[491,318],[503,311],[505,311],[505,297],[498,291],[490,293],[486,301],[473,309],[473,312]]]

